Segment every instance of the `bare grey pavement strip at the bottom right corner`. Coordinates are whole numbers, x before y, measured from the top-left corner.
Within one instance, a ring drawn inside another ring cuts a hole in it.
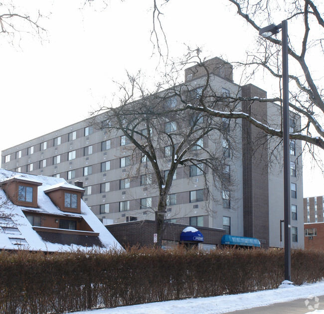
[[[276,303],[265,307],[227,312],[226,314],[305,314],[315,310],[324,310],[324,296]]]

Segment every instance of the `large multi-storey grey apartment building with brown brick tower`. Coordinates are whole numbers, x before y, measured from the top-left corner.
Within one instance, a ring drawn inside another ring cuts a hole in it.
[[[267,93],[257,86],[236,84],[231,64],[217,57],[205,64],[216,92],[266,98]],[[185,70],[184,84],[197,90],[205,77],[203,68],[193,66]],[[177,102],[172,98],[170,105],[177,106]],[[277,104],[242,101],[237,109],[280,128],[280,106]],[[104,114],[102,117],[104,121]],[[211,187],[213,201],[210,202],[203,197],[205,182],[199,169],[179,166],[173,176],[165,218],[172,223],[221,228],[234,236],[257,238],[264,247],[282,247],[283,174],[278,162],[282,160],[281,144],[246,121],[223,122],[229,123],[229,130],[235,135],[235,148],[228,149],[222,135],[216,131],[200,145],[219,150],[227,158],[224,175],[230,176],[234,188],[224,193],[220,187]],[[292,115],[292,131],[299,124],[299,117]],[[60,177],[70,184],[81,180],[85,189],[84,202],[104,224],[154,220],[154,213],[148,209],[157,205],[158,192],[152,189],[146,175],[130,177],[129,169],[134,162],[127,153],[130,145],[122,132],[112,134],[105,127],[91,125],[86,119],[2,151],[1,167]],[[273,153],[278,154],[278,158],[271,158]],[[162,154],[159,158],[167,173],[169,157]],[[303,248],[301,169],[301,143],[291,141],[292,247]],[[212,175],[210,172],[210,179]]]

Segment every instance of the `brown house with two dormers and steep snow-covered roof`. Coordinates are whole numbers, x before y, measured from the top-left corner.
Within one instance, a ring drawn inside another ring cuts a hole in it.
[[[0,249],[121,249],[83,192],[62,178],[0,169]]]

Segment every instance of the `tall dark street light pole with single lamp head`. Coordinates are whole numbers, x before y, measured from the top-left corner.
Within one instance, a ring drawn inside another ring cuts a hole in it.
[[[263,27],[259,34],[269,37],[282,29],[283,67],[283,142],[284,142],[284,234],[285,234],[285,280],[291,280],[291,226],[290,226],[290,147],[289,147],[289,88],[288,88],[288,23]]]

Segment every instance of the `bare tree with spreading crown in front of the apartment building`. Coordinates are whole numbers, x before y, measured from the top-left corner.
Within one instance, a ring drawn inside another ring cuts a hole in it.
[[[174,83],[171,75],[164,73],[164,77],[168,84]],[[203,174],[204,189],[193,197],[206,200],[206,210],[212,215],[209,204],[216,197],[211,187],[217,187],[225,195],[223,199],[227,199],[226,195],[235,188],[226,157],[233,156],[230,151],[234,151],[236,134],[234,124],[231,126],[233,131],[229,132],[229,121],[204,112],[183,111],[183,103],[218,101],[210,88],[209,76],[199,87],[188,82],[171,84],[164,89],[161,82],[153,92],[146,90],[142,79],[140,74],[128,75],[128,83],[120,85],[123,94],[120,105],[102,106],[93,113],[91,123],[106,128],[111,137],[121,136],[123,152],[127,156],[121,163],[129,166],[128,180],[142,176],[150,184],[151,192],[157,195],[157,206],[145,205],[156,215],[157,245],[161,246],[164,213],[170,202],[177,169],[185,167],[188,176],[191,172]],[[224,105],[220,97],[219,108]],[[98,115],[103,111],[104,114]]]

